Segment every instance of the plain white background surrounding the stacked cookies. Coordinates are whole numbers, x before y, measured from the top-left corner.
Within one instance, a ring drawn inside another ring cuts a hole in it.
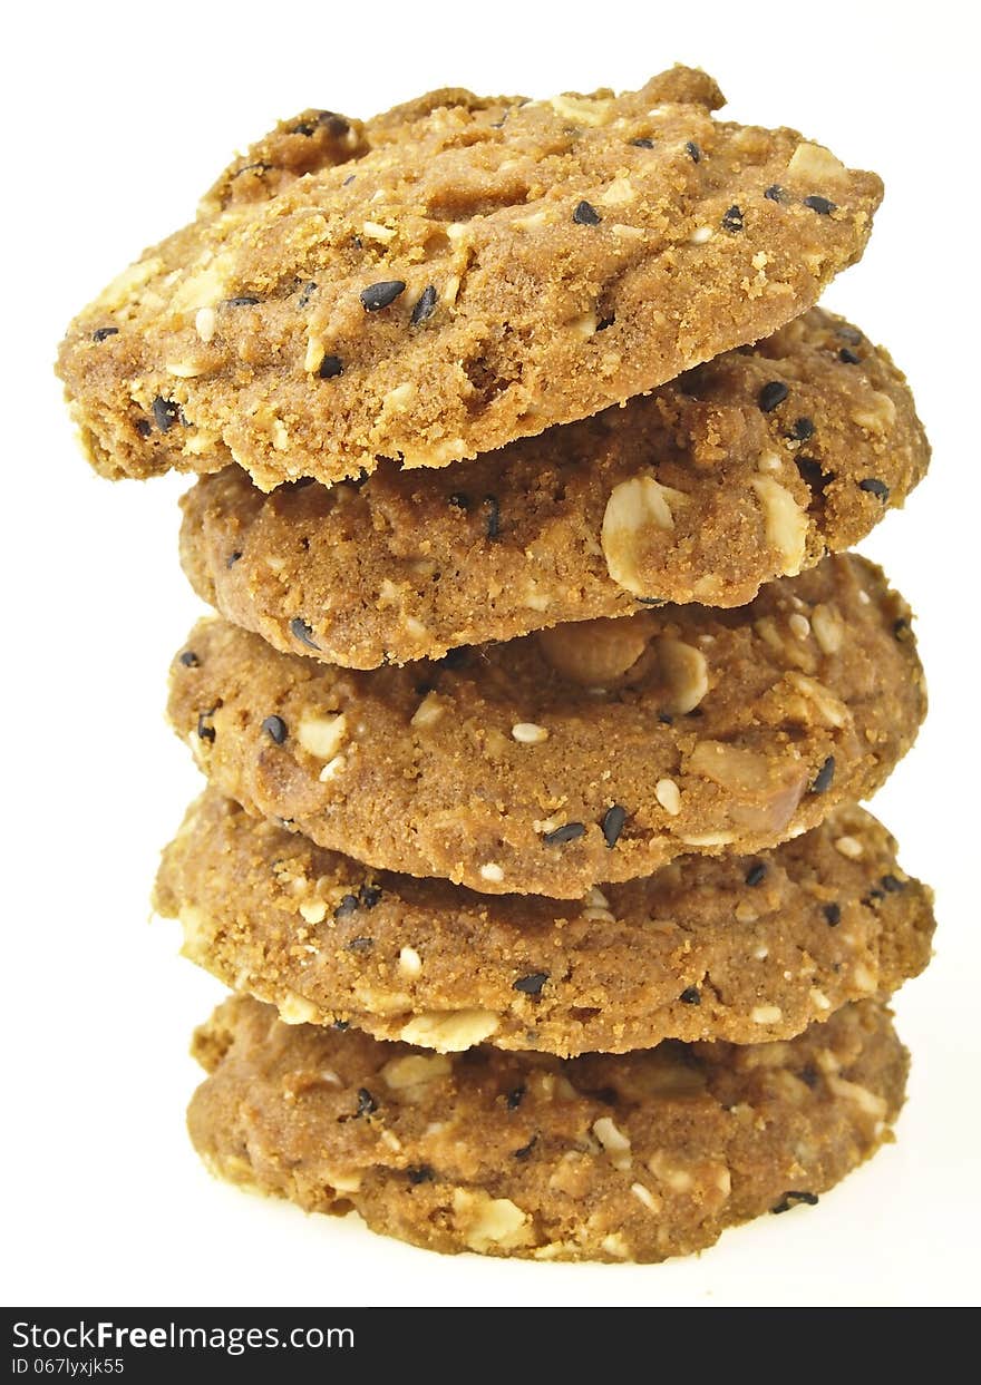
[[[3,83],[4,712],[0,1187],[7,1303],[830,1305],[977,1302],[977,133],[971,7],[90,3],[8,10]],[[866,551],[913,601],[933,711],[876,801],[937,886],[930,972],[898,1000],[899,1141],[815,1210],[665,1266],[441,1258],[213,1183],[184,1136],[191,1028],[220,988],[150,922],[157,850],[197,792],[162,720],[195,616],[170,479],[109,485],[51,375],[69,317],[190,219],[234,148],[303,107],[428,87],[630,87],[705,66],[733,118],[874,168],[869,252],[827,295],[908,371],[935,457]]]

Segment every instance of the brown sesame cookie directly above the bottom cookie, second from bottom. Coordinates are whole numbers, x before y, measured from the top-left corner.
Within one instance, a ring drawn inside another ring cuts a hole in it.
[[[209,789],[154,903],[180,918],[184,956],[290,1022],[561,1057],[790,1039],[892,994],[934,928],[930,891],[859,807],[759,856],[682,856],[563,904],[370,871]]]

